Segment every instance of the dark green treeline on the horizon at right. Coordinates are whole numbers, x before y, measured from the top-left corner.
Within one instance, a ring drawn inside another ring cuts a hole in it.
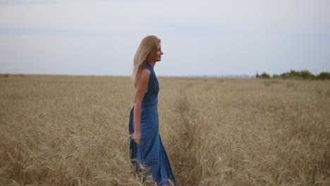
[[[259,75],[257,73],[256,75],[257,78],[261,79],[295,79],[295,80],[330,80],[330,73],[328,72],[322,72],[319,73],[318,75],[314,75],[310,73],[309,70],[302,70],[302,71],[295,71],[295,70],[290,70],[288,73],[282,73],[281,75],[269,75],[268,73],[262,73]]]

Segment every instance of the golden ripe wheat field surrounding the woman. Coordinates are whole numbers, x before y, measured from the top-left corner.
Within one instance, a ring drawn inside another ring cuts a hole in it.
[[[178,185],[330,185],[330,82],[159,77]],[[0,185],[145,185],[129,77],[0,77]]]

